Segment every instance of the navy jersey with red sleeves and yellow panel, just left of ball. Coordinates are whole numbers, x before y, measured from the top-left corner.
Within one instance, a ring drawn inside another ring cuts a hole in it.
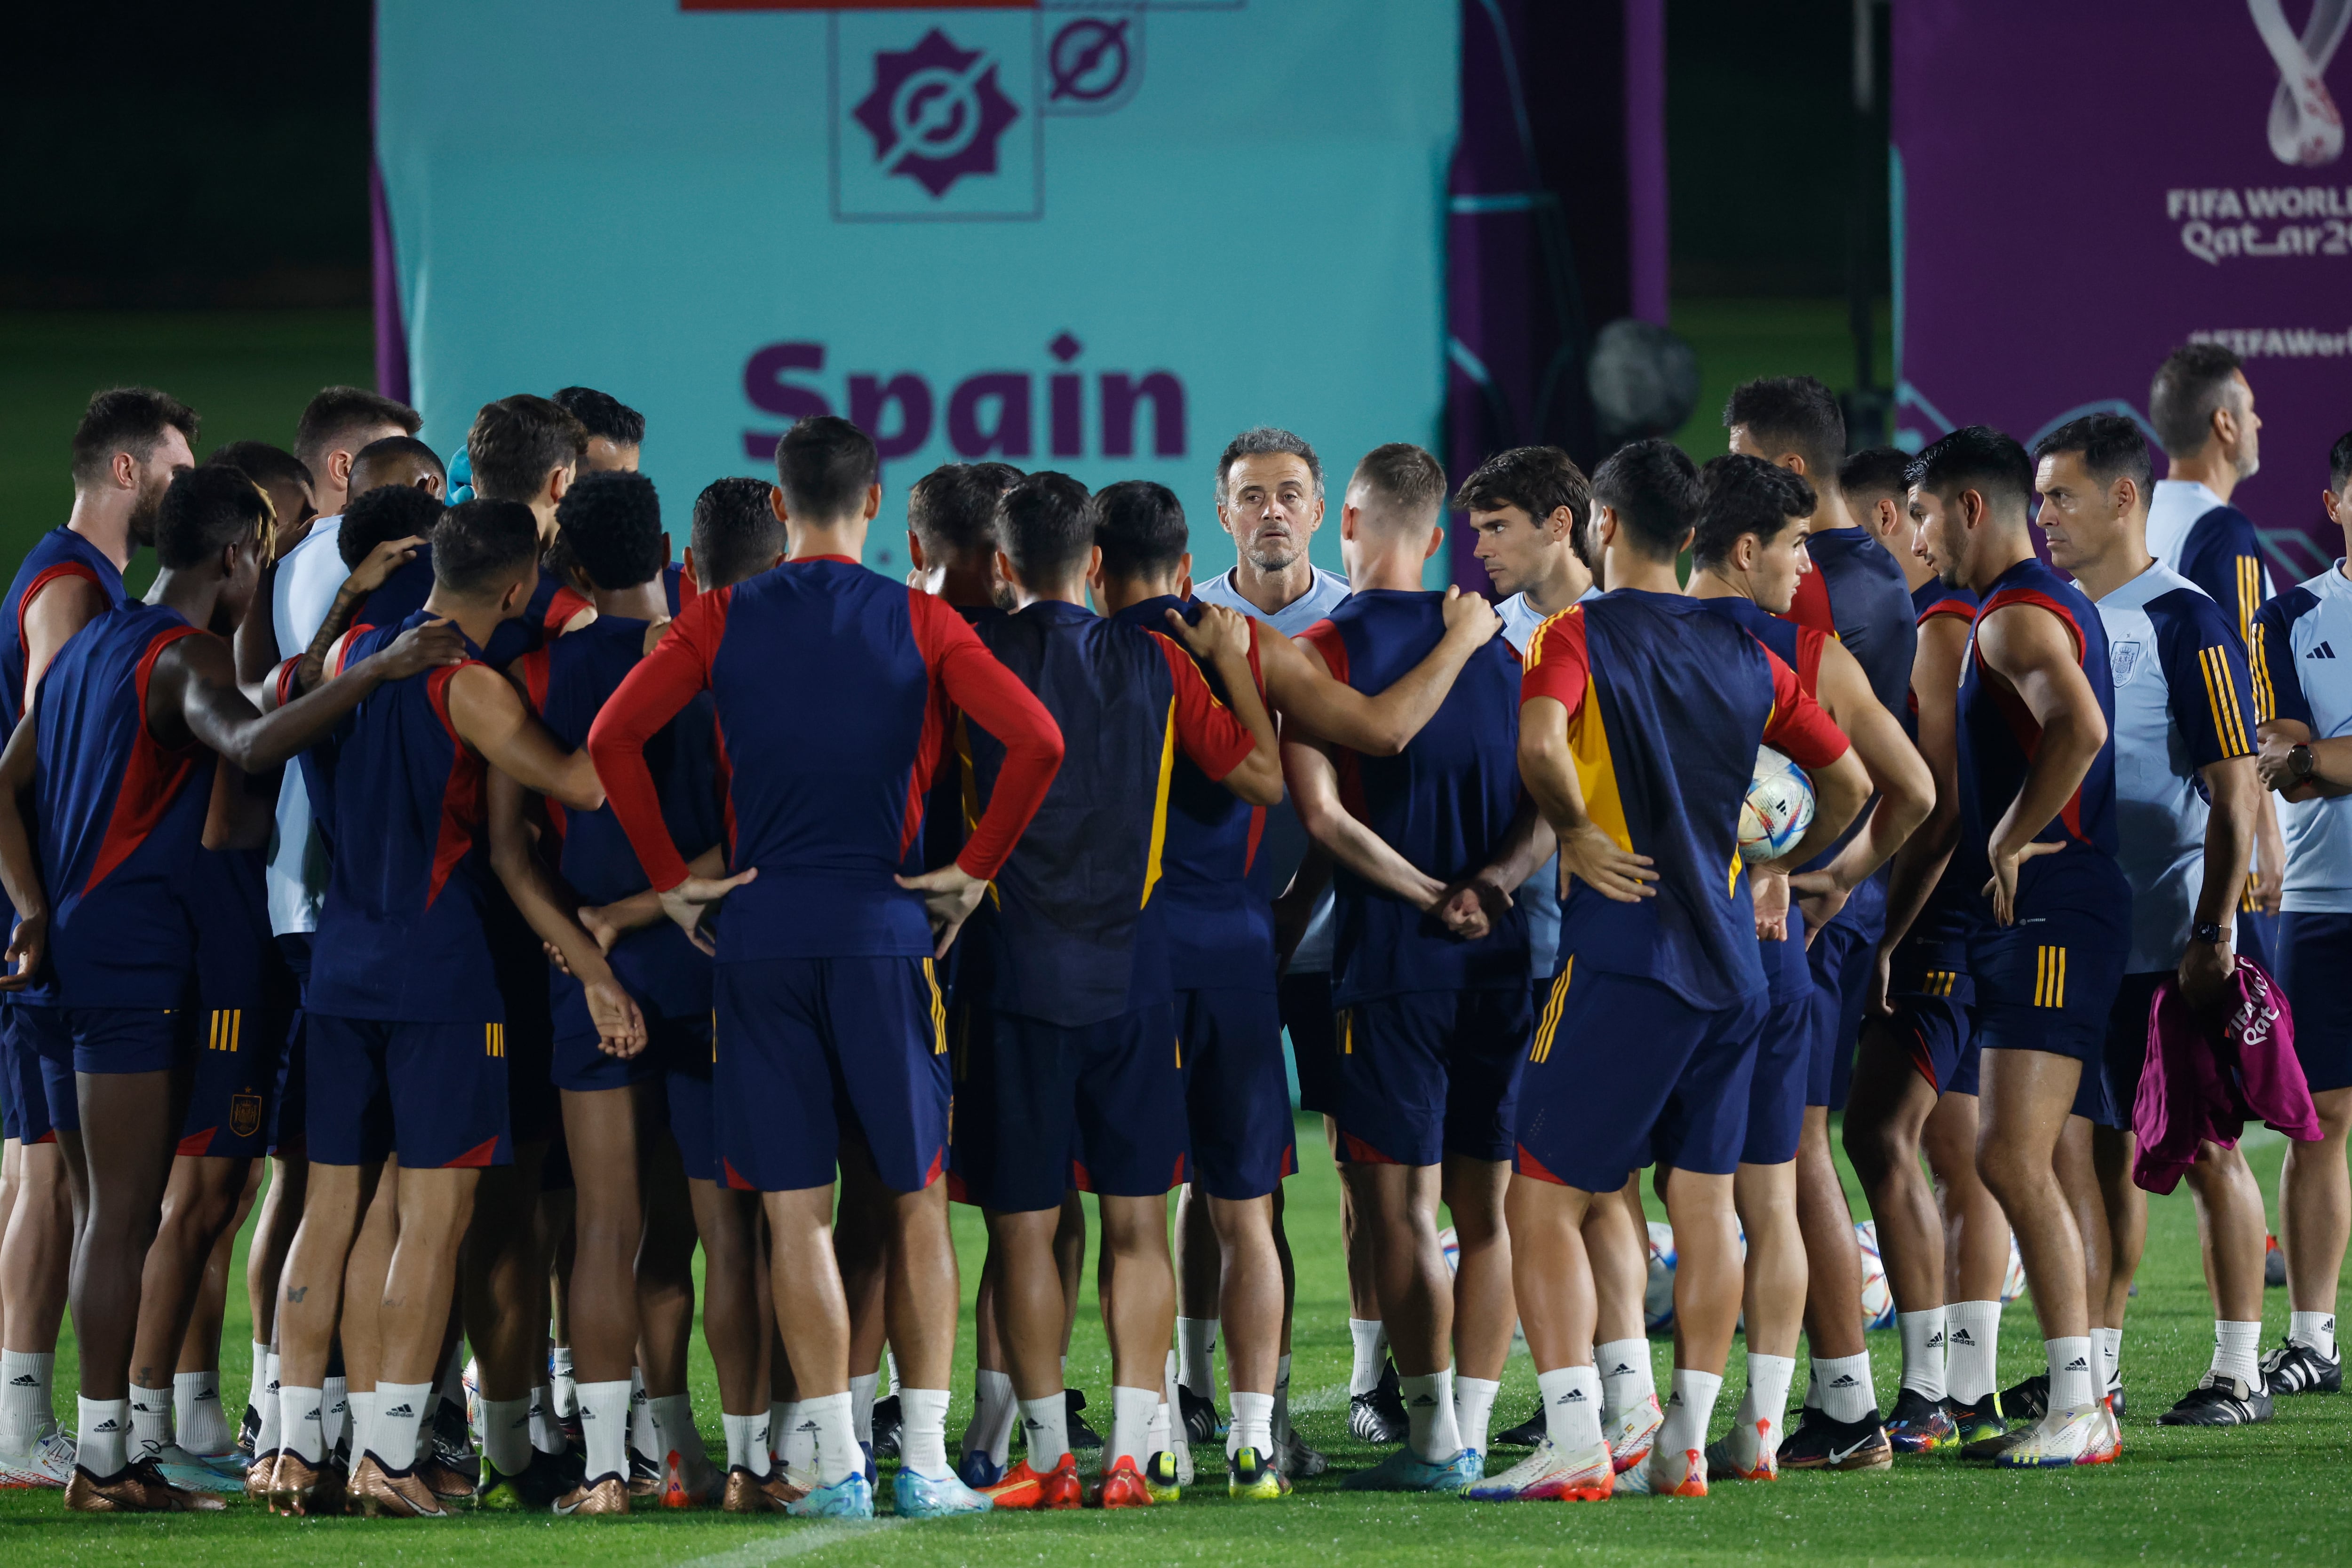
[[[1571,886],[1562,969],[1637,976],[1719,1011],[1766,987],[1738,849],[1757,748],[1816,769],[1846,738],[1783,658],[1705,604],[1637,588],[1571,604],[1536,637],[1522,701],[1569,710],[1585,813],[1658,872],[1639,903]]]

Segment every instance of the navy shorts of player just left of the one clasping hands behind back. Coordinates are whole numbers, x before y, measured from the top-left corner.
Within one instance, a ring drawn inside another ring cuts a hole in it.
[[[1216,1199],[1265,1197],[1298,1168],[1275,992],[1176,992],[1176,1037],[1183,1041],[1192,1185]]]

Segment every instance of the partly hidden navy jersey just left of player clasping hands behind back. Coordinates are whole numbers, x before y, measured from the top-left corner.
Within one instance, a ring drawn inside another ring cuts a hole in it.
[[[1171,609],[1200,623],[1200,604],[1176,597],[1129,604],[1112,621],[1157,632]],[[1216,670],[1195,665],[1209,691],[1225,701]],[[1256,623],[1249,668],[1258,672]],[[1263,675],[1258,696],[1265,696]],[[1251,806],[1190,757],[1176,759],[1160,849],[1162,929],[1176,990],[1275,990],[1275,872],[1265,853],[1265,806]]]

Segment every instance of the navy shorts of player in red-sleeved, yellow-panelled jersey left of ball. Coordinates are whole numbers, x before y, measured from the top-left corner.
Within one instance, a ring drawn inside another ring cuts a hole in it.
[[[1616,1192],[1646,1164],[1731,1175],[1769,1011],[1764,992],[1696,1009],[1571,959],[1526,1053],[1512,1168],[1583,1192]]]

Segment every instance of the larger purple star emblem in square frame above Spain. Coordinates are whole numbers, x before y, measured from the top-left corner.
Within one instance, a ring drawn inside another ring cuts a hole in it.
[[[1035,14],[837,12],[830,24],[835,216],[1040,216]]]

